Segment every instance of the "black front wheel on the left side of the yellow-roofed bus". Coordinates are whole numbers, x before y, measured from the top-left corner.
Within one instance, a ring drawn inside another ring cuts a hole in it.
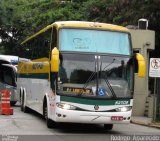
[[[48,118],[48,110],[47,110],[47,103],[46,102],[44,103],[43,108],[44,108],[43,109],[43,115],[44,115],[44,118],[46,120],[47,127],[52,128],[53,127],[53,121]]]

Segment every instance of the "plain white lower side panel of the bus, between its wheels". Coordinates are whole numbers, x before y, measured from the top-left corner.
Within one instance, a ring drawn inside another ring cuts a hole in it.
[[[43,114],[43,100],[50,91],[49,85],[46,79],[19,78],[17,82],[17,88],[19,90],[22,88],[25,91],[25,106],[40,114]]]

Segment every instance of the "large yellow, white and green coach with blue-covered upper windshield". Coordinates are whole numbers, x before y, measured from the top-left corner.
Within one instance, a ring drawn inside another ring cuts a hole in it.
[[[125,27],[62,21],[22,42],[28,61],[19,61],[21,110],[42,114],[51,128],[59,122],[130,123],[134,73],[145,75],[145,60],[133,54]]]

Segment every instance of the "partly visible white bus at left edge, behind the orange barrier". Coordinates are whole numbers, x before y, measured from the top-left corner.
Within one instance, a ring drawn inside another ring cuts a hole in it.
[[[0,90],[8,89],[11,91],[11,105],[15,105],[19,100],[16,84],[17,64],[17,56],[0,55]]]

